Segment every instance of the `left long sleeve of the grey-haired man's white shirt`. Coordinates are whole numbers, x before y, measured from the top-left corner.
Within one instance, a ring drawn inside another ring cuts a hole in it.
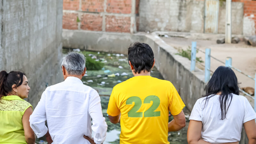
[[[29,117],[30,127],[35,132],[37,138],[44,136],[48,128],[45,126],[46,113],[45,113],[45,91],[42,94],[34,112]]]

